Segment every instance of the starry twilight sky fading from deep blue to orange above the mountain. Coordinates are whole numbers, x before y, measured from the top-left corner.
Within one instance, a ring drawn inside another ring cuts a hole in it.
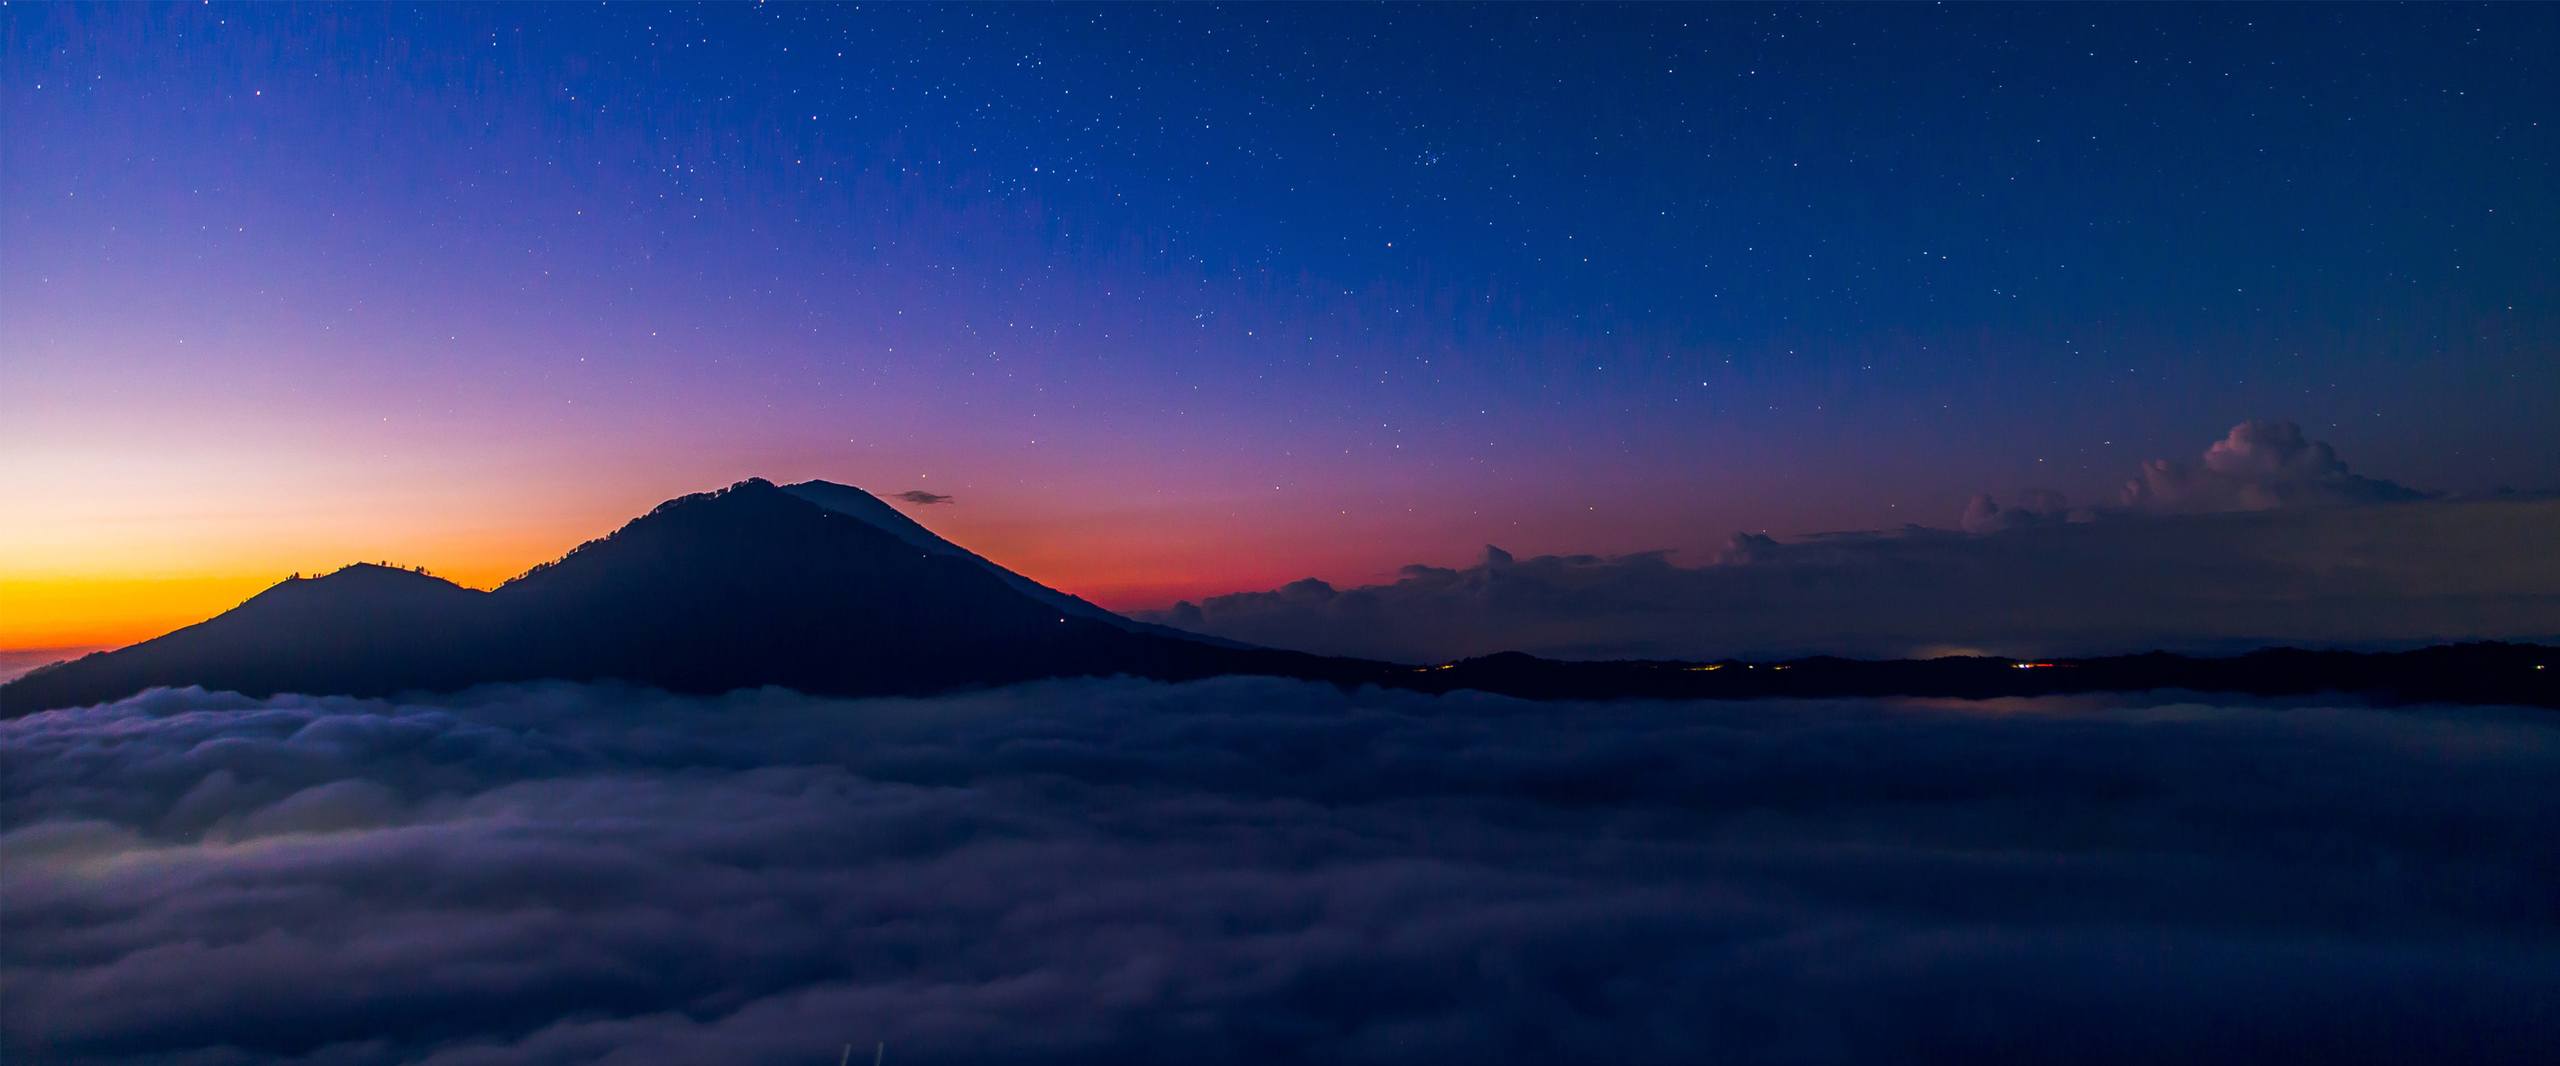
[[[1111,607],[2560,487],[2560,8],[0,8],[0,648],[742,477]]]

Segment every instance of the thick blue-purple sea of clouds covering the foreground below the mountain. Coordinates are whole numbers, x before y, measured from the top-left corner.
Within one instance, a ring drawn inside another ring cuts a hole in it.
[[[67,1063],[2547,1061],[2560,718],[197,689],[0,723]]]

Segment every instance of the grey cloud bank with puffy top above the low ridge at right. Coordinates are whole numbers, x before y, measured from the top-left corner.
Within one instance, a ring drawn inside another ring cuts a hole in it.
[[[2017,656],[2391,646],[2560,636],[2560,500],[2445,500],[2360,477],[2291,423],[2243,423],[2202,461],[2143,464],[2115,505],[1981,495],[1961,530],[1669,554],[1405,566],[1393,584],[1306,579],[1147,612],[1280,648],[1441,661]]]

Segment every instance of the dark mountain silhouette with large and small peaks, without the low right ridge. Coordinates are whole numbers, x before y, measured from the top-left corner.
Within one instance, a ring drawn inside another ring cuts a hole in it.
[[[909,694],[1091,674],[1352,682],[1385,669],[1132,623],[942,541],[868,492],[748,479],[668,500],[492,592],[389,566],[289,579],[212,620],[26,674],[0,687],[0,715],[159,684],[394,694],[612,679]]]

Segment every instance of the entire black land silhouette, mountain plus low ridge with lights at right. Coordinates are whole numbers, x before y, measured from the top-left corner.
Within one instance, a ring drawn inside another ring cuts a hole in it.
[[[1249,648],[1134,623],[1006,571],[863,489],[748,479],[668,500],[492,589],[348,566],[289,579],[177,633],[0,687],[0,715],[151,687],[387,697],[492,682],[630,682],[929,694],[1050,676],[1295,676],[1531,700],[2025,697],[2196,689],[2560,705],[2560,651],[2258,651],[2063,659],[1659,664],[1521,653],[1403,666]]]

